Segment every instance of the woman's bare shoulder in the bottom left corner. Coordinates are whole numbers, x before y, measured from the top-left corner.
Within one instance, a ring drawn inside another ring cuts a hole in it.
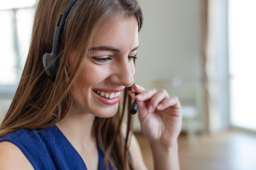
[[[0,170],[34,170],[22,151],[8,141],[0,142]]]

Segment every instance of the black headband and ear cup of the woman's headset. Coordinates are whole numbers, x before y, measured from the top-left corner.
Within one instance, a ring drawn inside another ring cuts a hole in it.
[[[52,47],[48,48],[43,55],[43,66],[45,68],[45,73],[47,77],[52,80],[52,82],[55,81],[58,70],[60,60],[60,57],[58,57],[58,55],[61,51],[61,34],[63,31],[63,27],[65,25],[67,15],[75,2],[76,0],[70,0],[67,6],[61,12],[61,16],[58,19],[58,24],[55,29]]]

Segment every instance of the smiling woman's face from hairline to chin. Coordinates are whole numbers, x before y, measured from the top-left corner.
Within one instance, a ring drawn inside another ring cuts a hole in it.
[[[138,45],[135,17],[119,16],[99,28],[73,86],[76,102],[72,110],[98,117],[115,115],[121,91],[134,83],[133,57]],[[75,58],[70,56],[71,65]]]

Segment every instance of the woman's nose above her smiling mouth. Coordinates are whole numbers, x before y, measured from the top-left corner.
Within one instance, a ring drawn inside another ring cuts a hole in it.
[[[133,62],[128,60],[120,60],[113,67],[113,74],[110,76],[110,81],[121,86],[130,87],[134,83],[135,66]]]

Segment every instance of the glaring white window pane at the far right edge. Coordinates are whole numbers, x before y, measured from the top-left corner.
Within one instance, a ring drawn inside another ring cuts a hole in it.
[[[229,0],[231,125],[256,130],[256,0]]]

